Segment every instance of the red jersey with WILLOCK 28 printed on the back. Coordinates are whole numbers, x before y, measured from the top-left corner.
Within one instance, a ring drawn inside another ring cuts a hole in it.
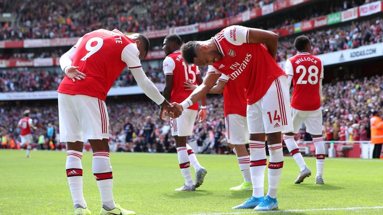
[[[293,77],[291,107],[316,110],[321,107],[320,79],[323,79],[321,59],[308,52],[298,53],[286,61],[286,74]]]

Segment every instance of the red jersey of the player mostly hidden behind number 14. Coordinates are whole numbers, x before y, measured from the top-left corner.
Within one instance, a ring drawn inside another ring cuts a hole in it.
[[[209,68],[211,68],[211,66],[209,66]],[[222,74],[218,80],[227,82],[223,90],[223,110],[225,116],[228,114],[246,116],[247,103],[245,89],[235,84],[225,74]]]

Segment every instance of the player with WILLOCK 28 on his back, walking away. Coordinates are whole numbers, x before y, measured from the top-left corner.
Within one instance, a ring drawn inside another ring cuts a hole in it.
[[[322,79],[323,64],[321,59],[311,55],[311,43],[307,36],[298,36],[294,41],[298,53],[286,61],[285,72],[289,76],[288,83],[293,81],[293,96],[291,98],[291,113],[293,116],[294,130],[285,133],[283,139],[288,150],[297,162],[301,172],[295,181],[296,184],[311,175],[294,134],[298,133],[304,122],[306,131],[313,137],[315,155],[317,158],[316,184],[323,184],[323,166],[325,164],[325,144],[322,137]],[[308,102],[309,100],[309,102]]]

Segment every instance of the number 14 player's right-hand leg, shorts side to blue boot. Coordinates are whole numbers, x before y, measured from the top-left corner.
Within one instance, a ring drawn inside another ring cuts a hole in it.
[[[254,210],[267,211],[278,208],[277,190],[283,169],[281,131],[293,130],[289,105],[287,78],[280,76],[261,99],[263,125],[269,148],[268,184],[265,200]]]

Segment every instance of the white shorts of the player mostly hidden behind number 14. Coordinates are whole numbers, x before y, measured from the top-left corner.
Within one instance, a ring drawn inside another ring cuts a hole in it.
[[[249,142],[249,129],[247,129],[246,116],[228,114],[225,117],[226,140],[234,145]]]

